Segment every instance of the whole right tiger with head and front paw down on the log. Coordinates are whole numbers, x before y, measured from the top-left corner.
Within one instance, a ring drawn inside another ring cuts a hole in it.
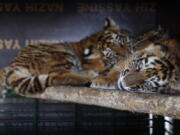
[[[151,42],[117,63],[91,87],[144,93],[180,92],[180,46],[176,39]]]

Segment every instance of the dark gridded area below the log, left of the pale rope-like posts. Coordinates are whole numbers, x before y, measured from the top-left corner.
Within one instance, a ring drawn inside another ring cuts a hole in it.
[[[1,135],[148,134],[147,114],[11,96],[0,100]]]

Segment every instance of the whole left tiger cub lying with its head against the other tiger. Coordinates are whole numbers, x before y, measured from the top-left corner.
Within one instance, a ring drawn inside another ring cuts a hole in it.
[[[124,55],[128,35],[107,18],[102,30],[79,42],[28,45],[4,69],[5,86],[19,94],[36,94],[50,86],[88,85]]]

